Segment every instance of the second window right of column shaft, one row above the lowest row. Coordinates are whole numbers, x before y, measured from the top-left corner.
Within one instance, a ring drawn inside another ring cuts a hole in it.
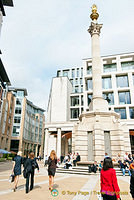
[[[131,104],[130,92],[119,92],[119,104]]]

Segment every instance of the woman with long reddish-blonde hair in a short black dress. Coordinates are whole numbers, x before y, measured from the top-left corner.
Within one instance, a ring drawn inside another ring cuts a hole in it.
[[[52,150],[48,158],[49,190],[53,189],[56,167],[57,167],[57,156],[56,152]]]

